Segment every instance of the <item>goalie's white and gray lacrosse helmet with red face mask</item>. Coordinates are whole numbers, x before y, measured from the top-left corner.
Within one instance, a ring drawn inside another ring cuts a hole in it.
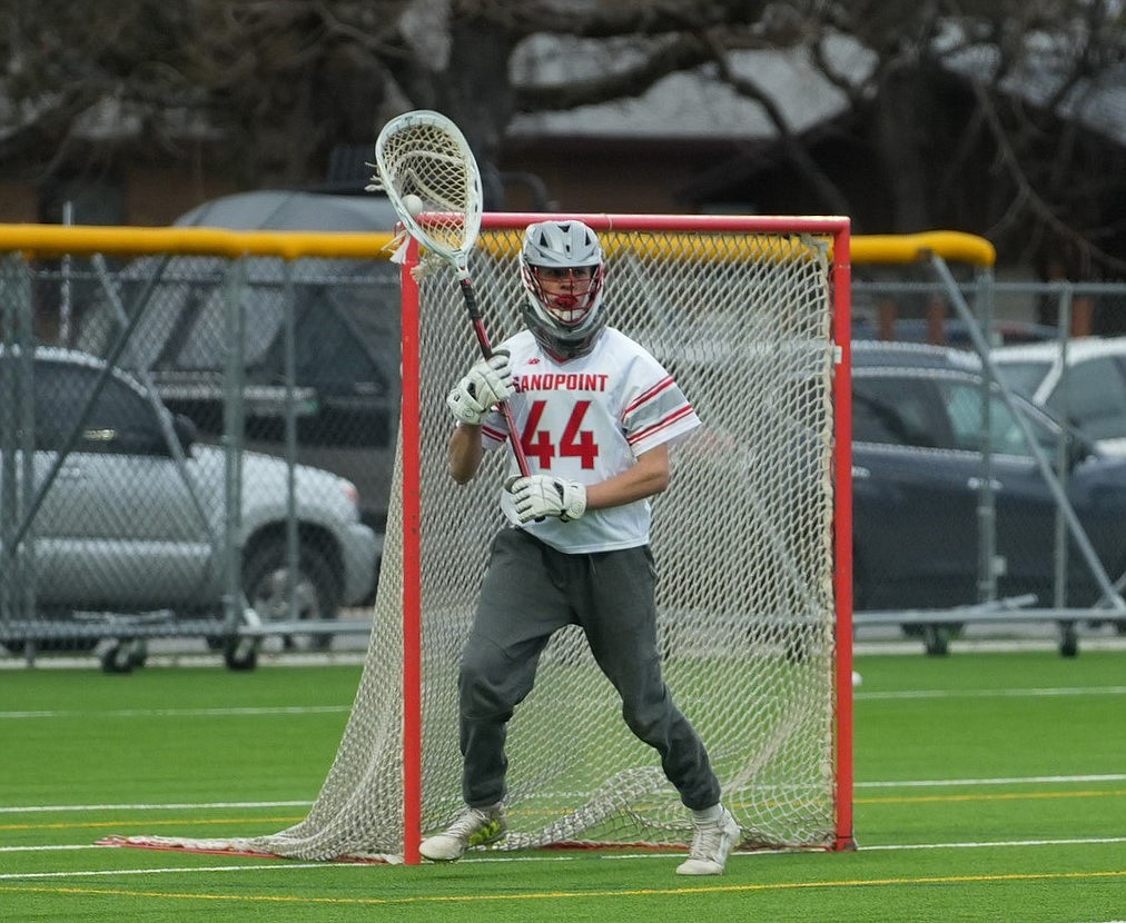
[[[575,275],[582,269],[589,274]],[[552,356],[565,361],[593,349],[606,326],[605,275],[598,235],[581,221],[542,221],[524,232],[524,322]]]

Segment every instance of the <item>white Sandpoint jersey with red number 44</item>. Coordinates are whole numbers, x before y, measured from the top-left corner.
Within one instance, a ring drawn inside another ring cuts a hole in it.
[[[544,352],[528,330],[497,349],[508,350],[511,357],[517,393],[508,404],[524,434],[531,474],[595,484],[699,425],[672,376],[644,348],[613,328],[602,332],[589,353],[566,362]],[[486,449],[506,445],[508,430],[498,411],[483,421],[481,439]],[[518,474],[513,457],[509,475]],[[500,503],[509,521],[519,525],[512,495],[503,489]],[[572,522],[548,518],[520,528],[561,552],[586,554],[645,545],[650,520],[649,500],[638,500],[588,510]]]

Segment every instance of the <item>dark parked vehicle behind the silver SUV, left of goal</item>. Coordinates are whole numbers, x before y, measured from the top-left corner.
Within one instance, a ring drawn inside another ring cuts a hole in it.
[[[179,227],[235,231],[390,232],[393,207],[382,196],[258,190],[206,201]],[[118,365],[144,373],[164,403],[189,416],[202,438],[223,433],[229,326],[224,272],[212,257],[143,257],[114,276],[116,292],[83,288],[77,341],[109,356],[138,313]],[[245,285],[243,416],[247,445],[285,451],[287,401],[296,416],[297,459],[327,468],[360,490],[361,517],[386,522],[399,422],[400,281],[386,260],[242,261]],[[287,289],[286,270],[291,271]],[[95,280],[97,281],[97,280]],[[294,303],[294,380],[286,387],[285,306]]]

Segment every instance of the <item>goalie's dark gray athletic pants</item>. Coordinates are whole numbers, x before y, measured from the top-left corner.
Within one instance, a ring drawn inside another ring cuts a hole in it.
[[[462,653],[462,794],[471,807],[504,796],[507,723],[531,691],[539,655],[566,625],[586,633],[622,696],[629,729],[661,756],[686,807],[720,800],[707,752],[672,701],[656,644],[656,573],[649,546],[569,555],[522,529],[493,540],[473,628]],[[557,702],[566,720],[569,702]]]

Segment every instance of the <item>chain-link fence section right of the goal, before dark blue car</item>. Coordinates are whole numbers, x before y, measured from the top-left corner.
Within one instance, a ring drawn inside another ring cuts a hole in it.
[[[932,256],[852,292],[856,624],[930,653],[973,622],[1057,622],[1065,655],[1126,630],[1126,338],[1069,335],[1092,308],[1112,330],[1126,285]]]

